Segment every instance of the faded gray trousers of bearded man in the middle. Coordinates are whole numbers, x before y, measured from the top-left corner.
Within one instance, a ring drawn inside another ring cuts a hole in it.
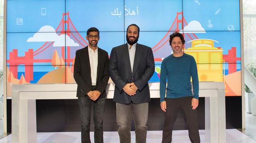
[[[148,103],[116,103],[118,134],[120,143],[131,142],[131,123],[135,123],[136,143],[146,143],[148,127]]]

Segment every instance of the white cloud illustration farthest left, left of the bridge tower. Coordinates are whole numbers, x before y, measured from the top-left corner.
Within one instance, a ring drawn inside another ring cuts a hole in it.
[[[27,42],[48,42],[56,41],[59,35],[56,34],[55,29],[52,26],[46,25],[39,29],[33,37],[28,38]]]

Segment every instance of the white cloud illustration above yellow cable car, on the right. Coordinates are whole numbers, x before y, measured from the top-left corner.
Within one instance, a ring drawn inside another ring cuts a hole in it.
[[[198,21],[190,21],[187,26],[184,27],[183,30],[180,30],[183,33],[206,33],[205,29],[202,27],[201,23]]]

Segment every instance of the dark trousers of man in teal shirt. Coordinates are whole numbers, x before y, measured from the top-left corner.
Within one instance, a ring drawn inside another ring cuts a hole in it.
[[[166,112],[165,112],[165,124],[163,129],[162,143],[171,143],[172,130],[174,122],[178,116],[178,112],[181,109],[184,113],[184,118],[189,128],[189,139],[191,143],[200,143],[200,136],[198,131],[197,111],[192,109],[191,106],[192,97],[181,98],[166,98]]]

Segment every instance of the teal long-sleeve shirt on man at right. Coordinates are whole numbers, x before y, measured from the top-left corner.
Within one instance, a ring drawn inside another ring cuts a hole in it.
[[[191,91],[191,77],[194,95]],[[198,99],[197,66],[191,55],[185,53],[181,57],[169,55],[163,60],[160,74],[160,102],[165,101],[165,91],[166,98],[191,96]]]

